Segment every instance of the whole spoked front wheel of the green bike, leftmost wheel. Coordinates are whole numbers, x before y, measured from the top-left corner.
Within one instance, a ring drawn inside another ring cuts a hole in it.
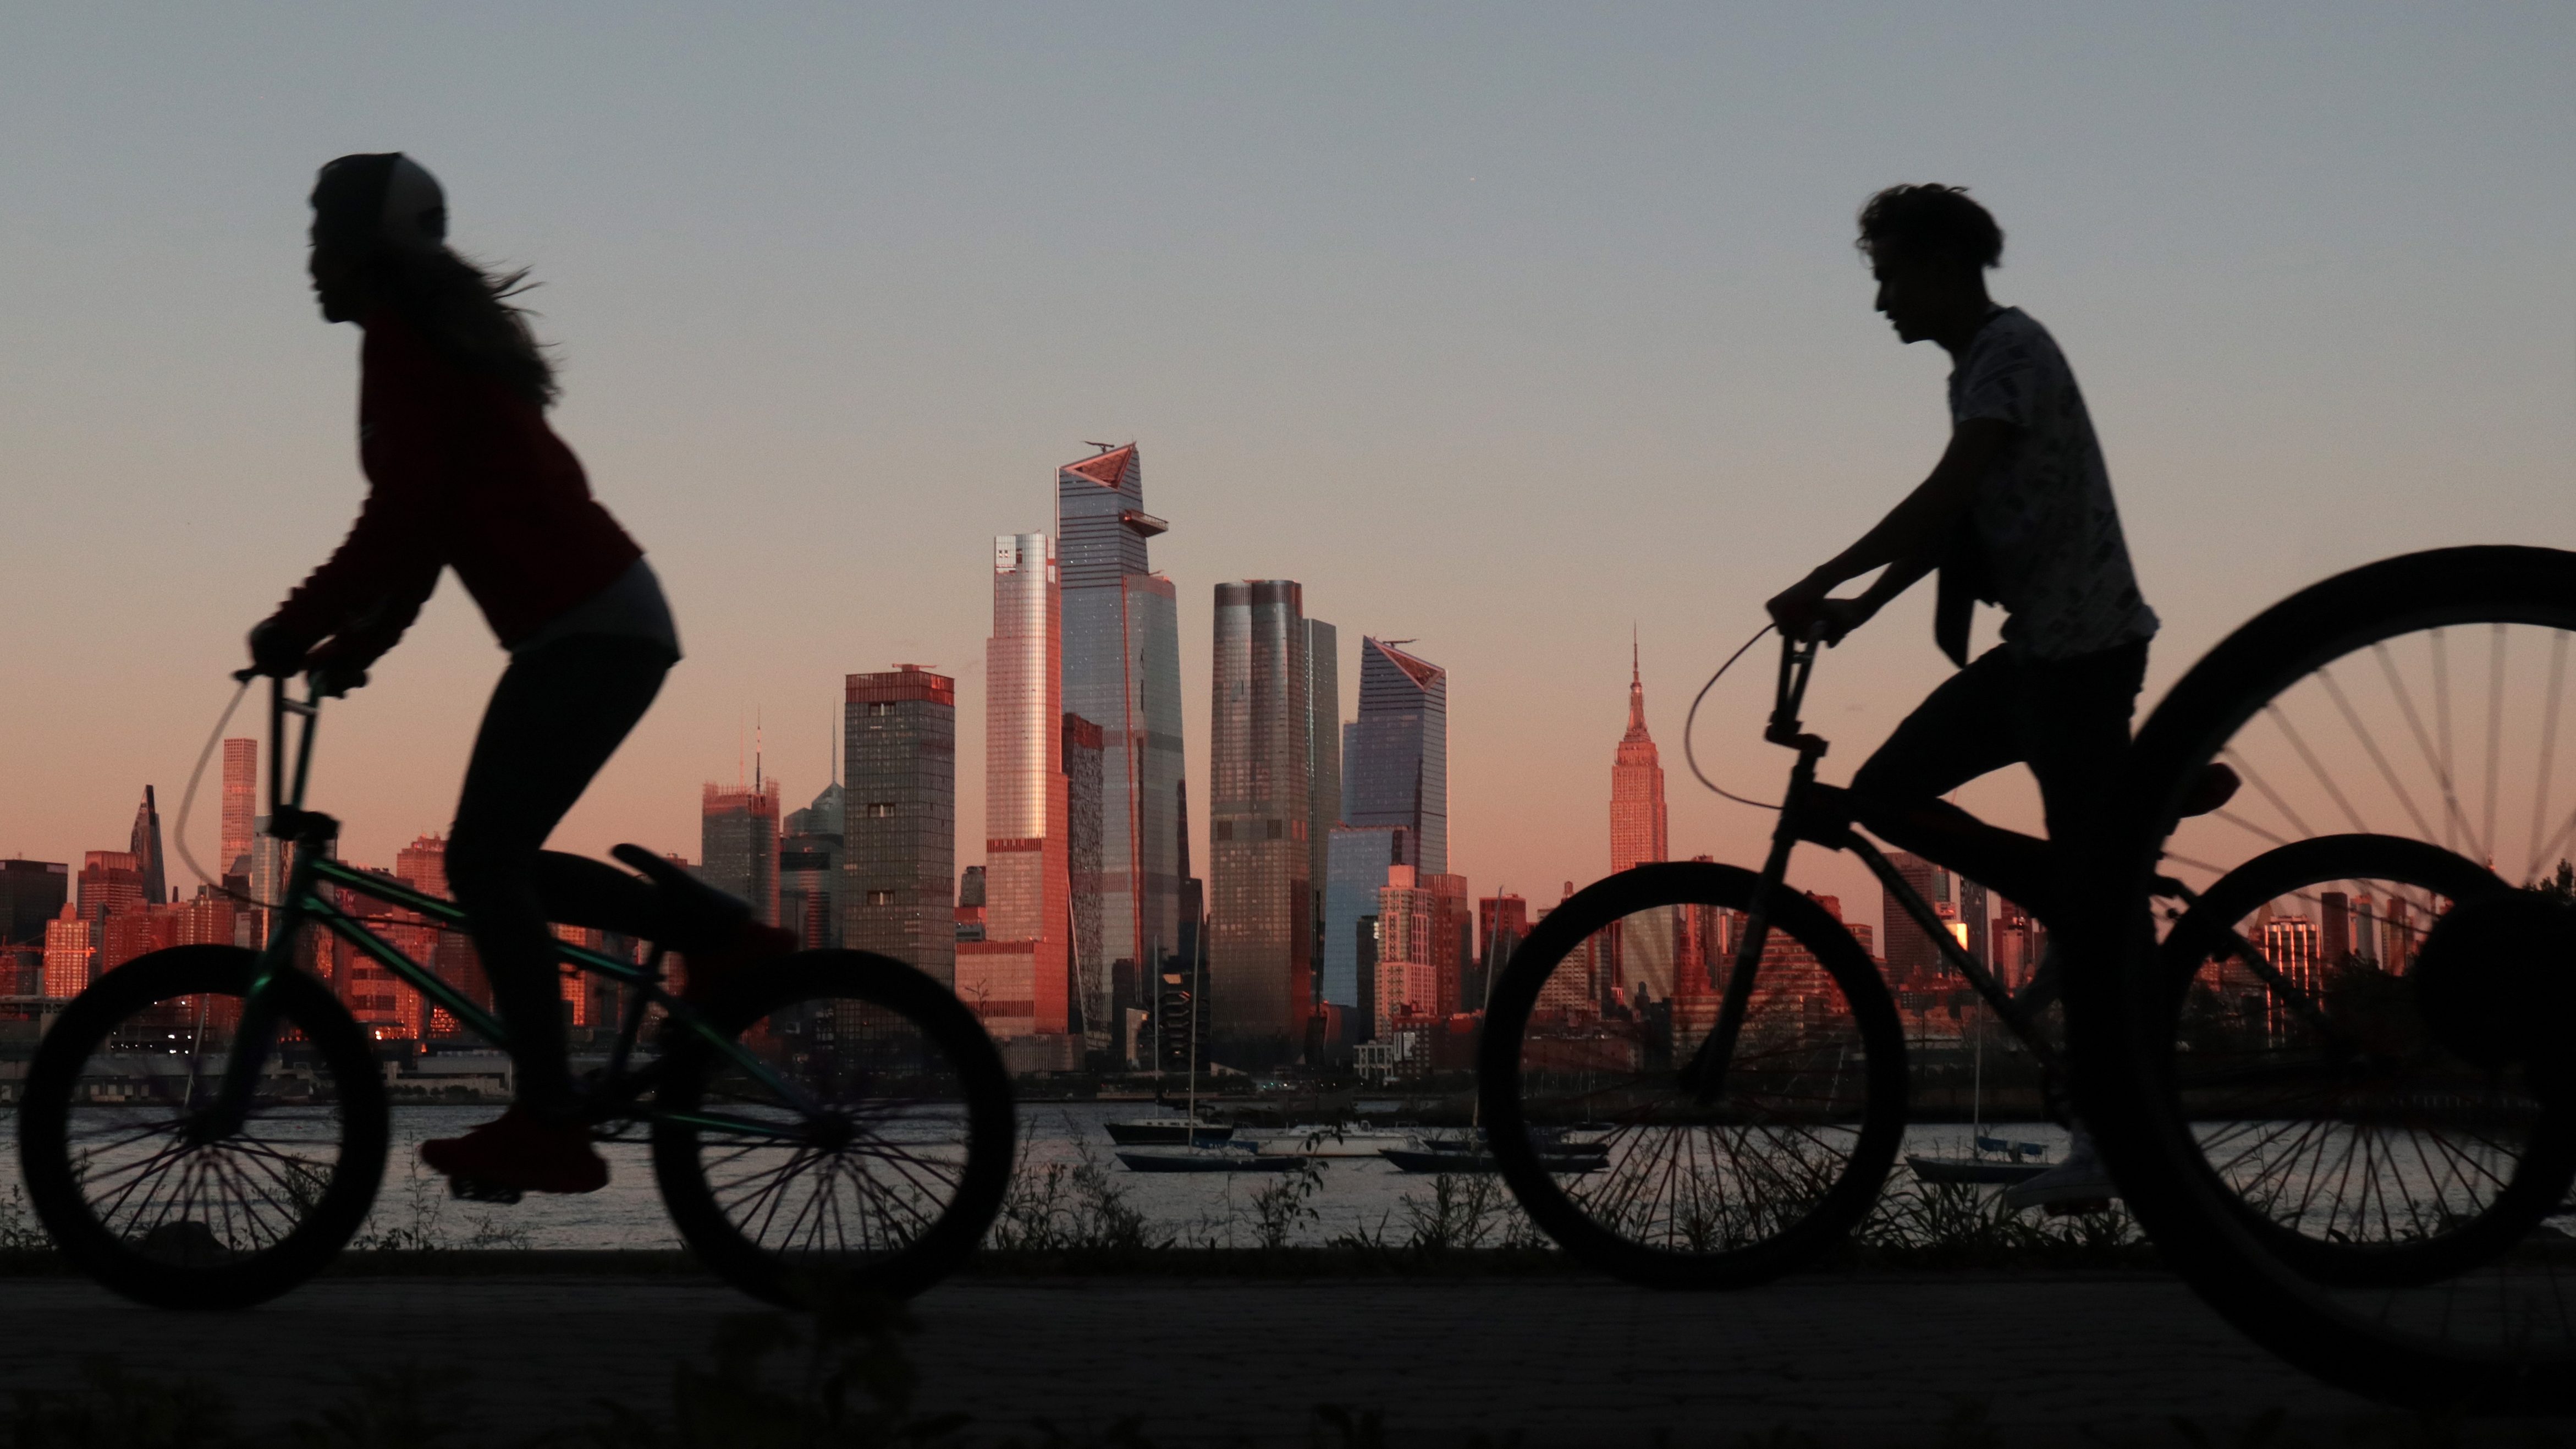
[[[18,1163],[72,1263],[155,1307],[247,1307],[312,1274],[384,1181],[384,1078],[330,987],[286,972],[245,1119],[216,1088],[258,957],[175,946],[72,998],[36,1047]]]

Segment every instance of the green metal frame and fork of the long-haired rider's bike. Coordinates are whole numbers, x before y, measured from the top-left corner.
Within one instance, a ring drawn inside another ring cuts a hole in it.
[[[453,900],[440,900],[435,895],[417,892],[397,879],[366,874],[350,869],[330,856],[332,843],[340,838],[340,822],[317,810],[304,810],[304,784],[312,776],[314,755],[314,727],[322,717],[325,694],[317,686],[307,686],[304,699],[294,699],[283,678],[270,678],[268,688],[268,835],[289,843],[291,866],[286,871],[286,890],[281,892],[276,918],[270,920],[268,944],[260,949],[258,967],[250,975],[250,990],[242,998],[242,1021],[232,1036],[232,1052],[224,1062],[224,1080],[216,1088],[211,1109],[201,1116],[198,1134],[227,1137],[242,1127],[250,1114],[250,1093],[260,1073],[268,1067],[268,1057],[276,1052],[276,982],[278,977],[296,969],[294,954],[296,941],[307,926],[319,926],[332,936],[348,941],[350,946],[366,951],[379,967],[392,972],[397,980],[417,990],[430,1003],[448,1011],[459,1026],[469,1034],[484,1039],[492,1047],[507,1049],[510,1036],[497,1016],[469,1000],[453,985],[438,980],[435,972],[376,936],[366,928],[358,915],[350,915],[337,902],[332,902],[322,887],[337,887],[355,892],[399,910],[417,913],[422,920],[438,926],[440,931],[464,931],[466,913]],[[289,719],[301,719],[304,727],[294,748],[294,773],[286,768],[286,724]],[[286,784],[291,781],[291,784]],[[654,944],[652,957],[639,967],[634,962],[621,962],[616,957],[603,957],[598,951],[585,951],[567,941],[554,944],[556,964],[569,964],[587,975],[611,977],[618,985],[631,987],[626,1016],[618,1024],[616,1047],[608,1057],[608,1073],[603,1083],[603,1106],[629,1106],[636,1109],[634,1116],[652,1122],[685,1122],[696,1127],[711,1127],[719,1132],[739,1132],[755,1137],[801,1137],[804,1127],[793,1122],[760,1122],[752,1116],[732,1116],[721,1111],[659,1111],[654,1106],[641,1106],[639,1098],[652,1091],[657,1080],[657,1065],[629,1070],[634,1047],[641,1039],[647,1013],[659,1006],[662,1013],[680,1029],[696,1031],[716,1052],[729,1057],[752,1080],[775,1091],[781,1101],[793,1104],[801,1114],[822,1114],[822,1106],[796,1083],[781,1078],[757,1055],[747,1052],[739,1042],[719,1031],[701,1016],[690,1003],[680,1000],[662,987],[662,957],[665,949]]]

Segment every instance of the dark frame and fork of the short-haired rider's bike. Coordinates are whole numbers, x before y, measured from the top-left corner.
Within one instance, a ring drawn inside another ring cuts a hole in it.
[[[1788,859],[1801,843],[1829,846],[1837,851],[1850,851],[1860,856],[1860,864],[1878,877],[1886,887],[1888,900],[1899,902],[1906,915],[1932,936],[1932,946],[1940,951],[1942,962],[1950,964],[1960,977],[1976,987],[1976,995],[1994,1008],[1996,1018],[2025,1044],[2032,1057],[2038,1057],[2043,1078],[2058,1080],[2058,1052],[2040,1036],[2038,1008],[2053,990],[2053,980],[2045,975],[2032,982],[2027,998],[2014,998],[2004,990],[2004,982],[1994,977],[1976,957],[1971,957],[1950,928],[1940,920],[1929,902],[1914,892],[1911,884],[1886,853],[1852,830],[1850,792],[1816,784],[1816,761],[1832,748],[1826,740],[1808,735],[1798,714],[1806,704],[1806,683],[1816,673],[1819,639],[1788,639],[1780,642],[1780,678],[1772,694],[1772,714],[1762,730],[1762,737],[1772,745],[1785,745],[1798,750],[1798,763],[1790,766],[1788,794],[1780,799],[1780,825],[1772,828],[1770,856],[1762,861],[1762,890],[1754,895],[1752,910],[1744,913],[1744,936],[1736,941],[1736,959],[1726,972],[1726,993],[1718,1003],[1718,1021],[1708,1039],[1700,1042],[1690,1062],[1682,1067],[1682,1083],[1695,1088],[1700,1101],[1716,1101],[1721,1083],[1726,1080],[1726,1065],[1734,1057],[1736,1036],[1744,1031],[1744,1016],[1752,1008],[1754,977],[1762,967],[1762,946],[1770,938],[1767,902],[1772,892],[1783,890],[1788,879]]]

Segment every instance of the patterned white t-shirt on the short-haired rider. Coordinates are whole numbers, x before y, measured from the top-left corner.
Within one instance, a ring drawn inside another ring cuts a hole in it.
[[[1996,307],[1950,371],[1950,423],[2002,418],[2012,446],[1976,485],[1968,518],[1986,549],[2004,642],[2071,660],[2156,634],[2128,565],[2110,469],[2076,374],[2048,327]]]

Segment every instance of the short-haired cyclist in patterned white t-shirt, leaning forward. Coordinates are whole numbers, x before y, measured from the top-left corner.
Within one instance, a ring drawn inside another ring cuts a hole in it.
[[[2156,611],[2130,572],[2110,469],[2066,353],[2027,312],[1986,297],[1986,268],[2004,258],[1994,217],[1965,188],[1891,186],[1860,209],[1857,245],[1896,338],[1940,343],[1953,358],[1950,446],[1904,503],[1772,598],[1770,614],[1785,632],[1821,624],[1839,642],[1940,570],[1932,634],[1960,670],[1852,776],[1855,817],[2058,926],[2069,890],[2048,841],[1942,797],[2027,763],[2048,835],[2071,841],[2128,750]],[[1829,598],[1870,570],[1883,572],[1857,598]],[[2004,606],[2004,639],[1968,660],[1978,601]],[[2007,1201],[2110,1196],[2079,1127],[2066,1160]]]

